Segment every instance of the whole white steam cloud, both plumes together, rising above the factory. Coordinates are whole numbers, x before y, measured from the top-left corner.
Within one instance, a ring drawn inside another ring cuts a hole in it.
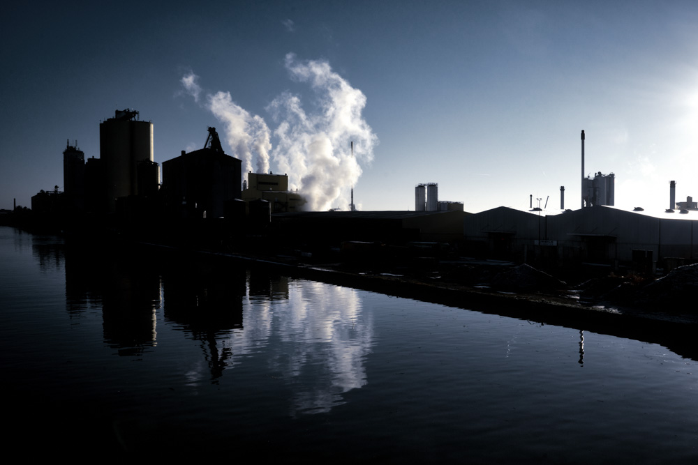
[[[378,143],[362,118],[366,96],[334,73],[327,61],[298,61],[295,54],[287,54],[285,68],[291,79],[310,84],[316,103],[306,112],[299,96],[284,92],[267,105],[276,124],[273,150],[265,120],[233,102],[229,92],[207,96],[205,106],[225,123],[225,138],[244,160],[246,171],[251,170],[253,153],[256,171],[269,171],[271,153],[277,171],[288,173],[289,188],[299,190],[309,209],[348,206],[349,190],[362,174],[359,162],[371,162]],[[186,75],[181,84],[198,101],[198,76]]]

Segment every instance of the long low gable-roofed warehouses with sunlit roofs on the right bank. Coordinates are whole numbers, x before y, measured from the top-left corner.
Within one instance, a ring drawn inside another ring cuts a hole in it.
[[[471,250],[491,257],[534,257],[595,264],[653,264],[698,258],[698,218],[611,206],[552,214],[499,207],[465,218]]]

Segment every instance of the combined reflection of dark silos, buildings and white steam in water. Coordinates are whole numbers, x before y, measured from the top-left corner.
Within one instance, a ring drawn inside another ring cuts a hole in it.
[[[85,247],[49,255],[65,258],[68,313],[101,310],[104,342],[119,356],[154,350],[158,312],[197,342],[189,386],[217,384],[227,369],[262,356],[269,376],[291,390],[290,415],[298,416],[327,412],[367,382],[373,317],[362,313],[355,289],[210,257]]]

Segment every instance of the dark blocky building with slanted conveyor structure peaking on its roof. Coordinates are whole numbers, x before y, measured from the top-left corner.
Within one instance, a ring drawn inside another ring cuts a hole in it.
[[[221,218],[241,197],[242,161],[223,152],[216,128],[208,131],[204,148],[163,162],[165,204],[177,218]]]

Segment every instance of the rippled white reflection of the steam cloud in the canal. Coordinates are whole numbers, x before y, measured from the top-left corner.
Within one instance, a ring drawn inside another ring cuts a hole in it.
[[[264,351],[269,367],[293,390],[293,416],[327,412],[343,403],[344,392],[366,384],[372,315],[362,312],[355,289],[288,284],[288,298],[250,296],[244,303],[244,328],[225,341],[235,353],[228,367]]]

